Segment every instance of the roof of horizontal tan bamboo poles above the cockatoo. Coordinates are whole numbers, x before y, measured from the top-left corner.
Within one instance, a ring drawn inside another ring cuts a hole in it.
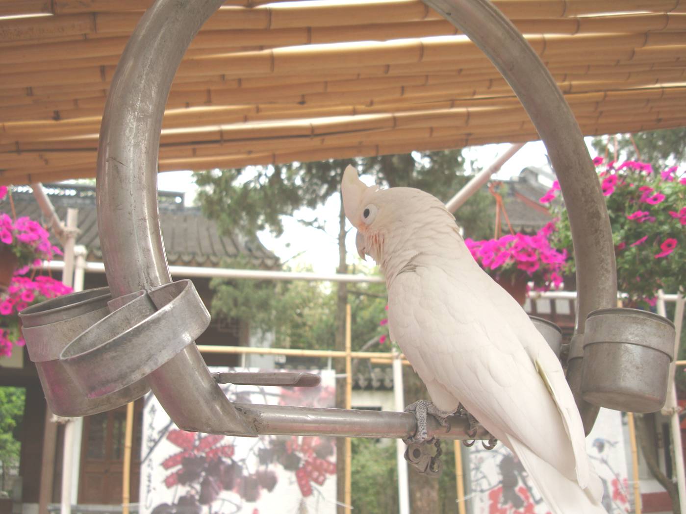
[[[95,176],[107,88],[151,3],[0,0],[0,184]],[[494,3],[585,135],[686,125],[686,0]],[[536,139],[486,56],[421,1],[228,0],[176,73],[159,169]]]

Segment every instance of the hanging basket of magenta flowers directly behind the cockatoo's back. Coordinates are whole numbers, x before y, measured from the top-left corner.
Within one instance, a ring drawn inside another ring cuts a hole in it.
[[[468,238],[464,243],[484,271],[523,305],[528,282],[538,291],[557,289],[562,284],[567,252],[550,247],[553,231],[554,224],[547,223],[532,236],[517,233],[484,241]]]

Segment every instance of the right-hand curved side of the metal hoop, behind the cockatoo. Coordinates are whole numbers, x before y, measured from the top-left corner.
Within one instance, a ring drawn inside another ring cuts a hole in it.
[[[592,310],[615,306],[617,270],[610,219],[579,125],[539,56],[493,3],[423,1],[469,36],[495,64],[545,143],[569,213],[579,295],[576,333],[582,334]],[[570,366],[567,382],[588,434],[598,407],[583,400],[580,380],[580,367]]]

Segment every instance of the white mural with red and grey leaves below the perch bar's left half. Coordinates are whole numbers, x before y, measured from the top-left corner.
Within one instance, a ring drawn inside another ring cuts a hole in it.
[[[319,387],[221,387],[232,402],[333,407],[333,371],[319,374]],[[334,439],[186,432],[150,393],[141,447],[141,514],[335,513]]]

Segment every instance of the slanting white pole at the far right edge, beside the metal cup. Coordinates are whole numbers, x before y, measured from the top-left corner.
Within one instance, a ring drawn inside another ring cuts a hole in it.
[[[660,290],[657,293],[657,313],[665,316],[665,295]],[[674,327],[676,337],[674,338],[674,360],[679,352],[679,340],[681,339],[681,325],[684,315],[684,297],[681,293],[676,295],[676,306],[674,308]],[[676,365],[672,363],[670,368],[670,381],[667,382],[667,402],[662,408],[663,415],[670,417],[670,432],[672,435],[672,454],[674,456],[674,472],[676,473],[676,489],[679,491],[679,506],[681,512],[686,513],[686,473],[684,472],[684,459],[681,441],[681,426],[679,426],[679,409],[676,401],[676,387],[674,384],[674,372]]]

